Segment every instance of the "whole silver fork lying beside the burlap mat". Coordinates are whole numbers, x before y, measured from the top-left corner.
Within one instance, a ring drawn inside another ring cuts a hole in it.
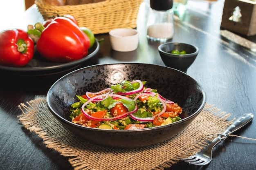
[[[220,143],[220,141],[225,140],[230,134],[235,132],[236,130],[245,126],[249,121],[252,120],[254,115],[252,113],[246,113],[240,116],[233,124],[231,124],[227,130],[225,130],[222,134],[218,134],[218,137],[214,138],[211,144],[204,150],[201,150],[197,154],[187,157],[187,158],[180,158],[180,160],[185,161],[187,163],[191,163],[193,165],[204,166],[211,162],[212,159],[212,150],[213,147]]]

